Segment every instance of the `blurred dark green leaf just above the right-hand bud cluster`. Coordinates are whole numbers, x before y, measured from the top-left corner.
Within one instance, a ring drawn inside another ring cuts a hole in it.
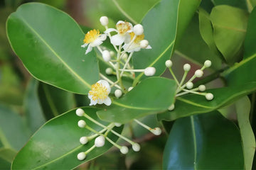
[[[206,60],[210,60],[213,63],[211,68],[220,69],[220,57],[215,55],[214,52],[209,49],[206,42],[203,42],[198,25],[198,14],[195,14],[183,34],[181,42],[179,42],[176,47],[176,55],[185,57],[186,59],[191,60],[191,62],[199,64],[203,64]],[[191,47],[192,43],[195,44],[193,47]]]

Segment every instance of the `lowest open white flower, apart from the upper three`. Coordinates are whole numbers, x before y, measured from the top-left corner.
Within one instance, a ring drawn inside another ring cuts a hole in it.
[[[108,96],[110,94],[110,84],[105,80],[97,81],[92,85],[92,90],[89,91],[88,98],[90,98],[90,106],[105,103],[110,106],[111,99]]]

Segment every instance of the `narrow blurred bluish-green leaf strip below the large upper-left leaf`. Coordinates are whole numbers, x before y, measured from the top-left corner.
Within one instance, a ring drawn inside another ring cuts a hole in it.
[[[27,124],[32,134],[46,122],[38,98],[38,84],[39,82],[36,79],[32,78],[30,80],[23,103]]]

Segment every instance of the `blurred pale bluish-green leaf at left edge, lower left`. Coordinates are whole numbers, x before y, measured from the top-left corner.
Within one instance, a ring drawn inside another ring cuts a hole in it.
[[[18,113],[0,105],[0,140],[4,147],[21,149],[28,140],[29,133]]]

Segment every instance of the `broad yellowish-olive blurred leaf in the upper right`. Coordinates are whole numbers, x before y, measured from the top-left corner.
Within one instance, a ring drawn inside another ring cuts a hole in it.
[[[240,60],[245,39],[248,13],[232,6],[215,6],[210,13],[213,38],[228,64]]]

